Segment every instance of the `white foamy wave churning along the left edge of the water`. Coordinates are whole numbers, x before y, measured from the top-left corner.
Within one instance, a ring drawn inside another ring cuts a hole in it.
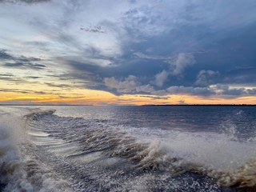
[[[37,115],[42,114],[50,111]],[[26,117],[34,118],[35,114]],[[33,155],[24,154],[31,145],[26,140],[25,126],[22,117],[13,113],[0,118],[0,191],[70,191],[68,182],[51,174]]]

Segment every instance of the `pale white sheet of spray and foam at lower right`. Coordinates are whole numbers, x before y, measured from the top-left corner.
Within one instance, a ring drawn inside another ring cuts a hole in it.
[[[230,140],[225,134],[178,133],[150,143],[139,166],[173,173],[192,171],[218,179],[219,186],[256,186],[256,142]]]

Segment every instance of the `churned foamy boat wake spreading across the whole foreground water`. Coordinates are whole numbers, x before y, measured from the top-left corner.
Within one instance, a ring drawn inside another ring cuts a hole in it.
[[[224,133],[178,130],[156,134],[111,120],[60,117],[54,112],[32,111],[21,119],[26,134],[20,149],[2,124],[2,189],[255,190],[254,136],[241,140]]]

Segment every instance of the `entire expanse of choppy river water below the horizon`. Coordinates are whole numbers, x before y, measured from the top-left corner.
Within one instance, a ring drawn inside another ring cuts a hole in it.
[[[1,106],[0,190],[255,191],[255,106]]]

